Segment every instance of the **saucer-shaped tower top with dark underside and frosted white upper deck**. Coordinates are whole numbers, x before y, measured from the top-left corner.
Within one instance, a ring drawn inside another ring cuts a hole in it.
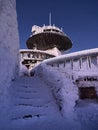
[[[59,51],[66,51],[72,47],[71,40],[56,26],[32,27],[32,35],[28,38],[28,49],[49,50],[56,47]]]

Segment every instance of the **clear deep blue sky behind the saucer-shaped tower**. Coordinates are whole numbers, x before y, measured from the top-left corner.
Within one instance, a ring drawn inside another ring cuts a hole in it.
[[[63,28],[71,39],[70,52],[98,47],[98,0],[16,0],[20,48],[25,49],[33,25]]]

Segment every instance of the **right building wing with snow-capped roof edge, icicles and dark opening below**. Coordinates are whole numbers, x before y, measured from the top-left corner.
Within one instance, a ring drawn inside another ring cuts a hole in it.
[[[98,98],[98,48],[48,59],[44,63],[76,84],[79,99]]]

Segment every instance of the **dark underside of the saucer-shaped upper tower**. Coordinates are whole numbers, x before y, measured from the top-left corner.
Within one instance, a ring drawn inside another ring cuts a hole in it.
[[[31,36],[27,42],[28,49],[48,50],[57,47],[60,51],[68,50],[72,47],[71,40],[66,35],[43,32]]]

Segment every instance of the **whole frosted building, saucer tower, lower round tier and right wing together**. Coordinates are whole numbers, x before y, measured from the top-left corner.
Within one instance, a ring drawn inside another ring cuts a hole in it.
[[[47,67],[51,66],[54,70],[65,73],[66,78],[73,80],[78,87],[80,99],[97,98],[98,48],[61,55],[62,51],[72,47],[72,42],[54,25],[34,25],[26,44],[29,49],[20,50],[21,61],[31,75],[36,66],[45,63]],[[88,95],[85,95],[85,92]]]

